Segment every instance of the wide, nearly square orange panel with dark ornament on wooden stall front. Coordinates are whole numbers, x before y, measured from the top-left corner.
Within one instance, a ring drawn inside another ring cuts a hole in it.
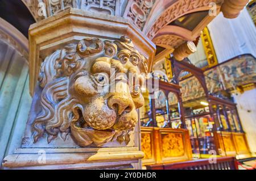
[[[164,158],[183,156],[185,154],[183,135],[177,133],[162,134],[162,153]]]

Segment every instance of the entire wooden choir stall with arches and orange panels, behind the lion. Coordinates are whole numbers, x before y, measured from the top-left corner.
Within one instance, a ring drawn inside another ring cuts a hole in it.
[[[159,165],[212,155],[250,157],[236,104],[207,90],[203,70],[176,60],[172,60],[172,65],[175,65],[172,81],[153,74],[159,89],[143,94],[142,164]],[[183,101],[179,75],[184,68],[199,80],[205,92],[204,99],[192,100],[193,104]]]

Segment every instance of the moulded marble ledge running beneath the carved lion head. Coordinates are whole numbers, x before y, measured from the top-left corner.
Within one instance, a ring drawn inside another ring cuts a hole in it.
[[[131,169],[138,148],[20,148],[3,159],[5,169]]]

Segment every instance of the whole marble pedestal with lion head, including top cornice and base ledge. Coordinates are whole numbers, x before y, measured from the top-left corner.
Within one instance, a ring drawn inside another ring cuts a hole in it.
[[[129,20],[77,9],[33,24],[29,36],[34,96],[21,148],[3,166],[128,168],[143,158],[134,128],[155,45]]]

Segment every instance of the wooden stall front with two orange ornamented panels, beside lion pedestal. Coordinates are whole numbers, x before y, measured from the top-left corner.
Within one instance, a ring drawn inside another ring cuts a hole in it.
[[[185,129],[142,127],[143,165],[187,161],[192,158],[191,143]]]

